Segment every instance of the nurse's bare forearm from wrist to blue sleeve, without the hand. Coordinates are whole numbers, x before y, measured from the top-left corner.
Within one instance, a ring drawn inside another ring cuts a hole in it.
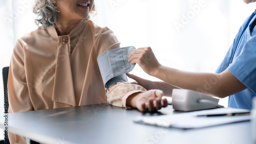
[[[246,89],[246,86],[227,69],[220,74],[191,73],[160,65],[153,74],[152,76],[176,87],[213,94],[219,98]]]

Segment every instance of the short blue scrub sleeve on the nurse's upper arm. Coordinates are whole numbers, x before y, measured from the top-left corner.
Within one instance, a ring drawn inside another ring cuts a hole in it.
[[[240,55],[227,69],[256,94],[256,36],[245,43]]]

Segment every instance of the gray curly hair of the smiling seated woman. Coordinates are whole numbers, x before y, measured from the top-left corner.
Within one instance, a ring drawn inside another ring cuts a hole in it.
[[[37,0],[33,7],[33,12],[38,15],[35,19],[36,25],[40,29],[46,29],[50,26],[57,27],[59,9],[56,6],[57,0]],[[95,5],[93,5],[92,14],[96,15]],[[90,16],[86,20],[90,19]],[[59,23],[61,24],[61,23]]]

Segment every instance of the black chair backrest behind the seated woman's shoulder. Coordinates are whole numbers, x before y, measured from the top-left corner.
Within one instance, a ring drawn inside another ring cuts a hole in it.
[[[8,74],[9,74],[9,66],[3,68],[3,81],[4,81],[4,107],[5,113],[8,113],[8,89],[7,89],[7,81],[8,81]]]

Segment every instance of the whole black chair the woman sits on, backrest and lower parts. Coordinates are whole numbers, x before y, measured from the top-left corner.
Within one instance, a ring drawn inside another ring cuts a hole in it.
[[[8,113],[9,108],[9,102],[8,102],[8,89],[7,89],[7,81],[8,81],[8,74],[9,74],[9,66],[3,68],[3,81],[4,81],[4,107],[5,107],[5,113]],[[10,144],[9,138],[5,137],[5,140],[1,140],[0,144]],[[31,144],[37,144],[38,142],[35,142],[33,140],[30,140]]]

